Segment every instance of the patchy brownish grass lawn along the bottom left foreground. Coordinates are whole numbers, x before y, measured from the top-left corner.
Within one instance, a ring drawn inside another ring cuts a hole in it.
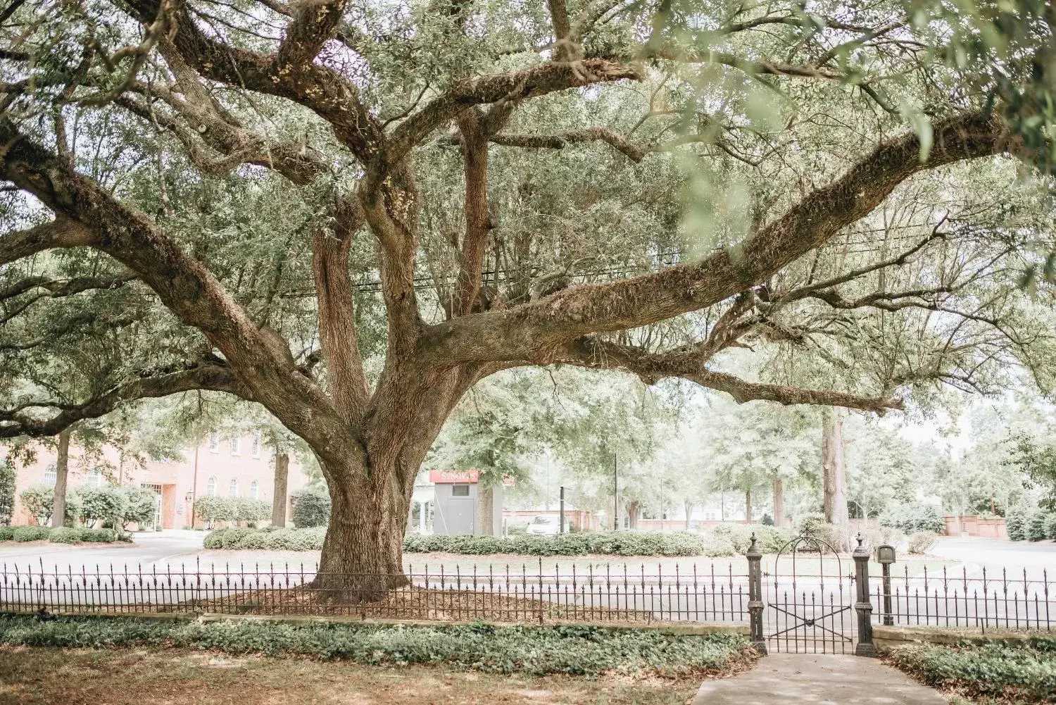
[[[684,705],[699,686],[696,678],[527,678],[154,648],[0,647],[3,705]]]

